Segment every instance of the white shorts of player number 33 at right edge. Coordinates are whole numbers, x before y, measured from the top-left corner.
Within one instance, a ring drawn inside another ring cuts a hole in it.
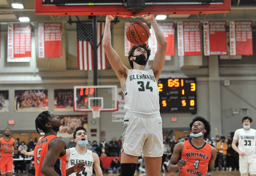
[[[256,154],[246,154],[245,156],[239,156],[239,171],[241,175],[246,173],[256,174]]]

